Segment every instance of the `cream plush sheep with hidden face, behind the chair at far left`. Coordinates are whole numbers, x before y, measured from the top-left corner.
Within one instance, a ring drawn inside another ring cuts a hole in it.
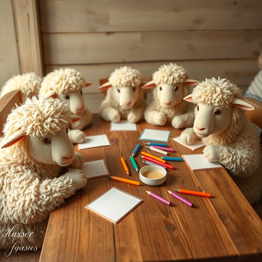
[[[22,101],[24,102],[26,97],[32,98],[38,94],[41,82],[42,78],[34,72],[14,75],[7,80],[2,87],[0,98],[11,91],[19,89],[21,91]]]

